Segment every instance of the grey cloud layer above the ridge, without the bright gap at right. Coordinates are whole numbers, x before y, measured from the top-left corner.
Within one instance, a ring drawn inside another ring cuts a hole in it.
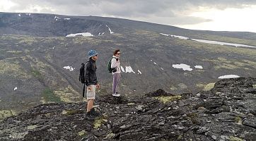
[[[57,13],[75,16],[114,16],[168,25],[189,25],[210,19],[187,16],[205,8],[243,8],[256,4],[254,0],[10,0],[16,4],[7,12],[25,9],[35,13]],[[1,8],[1,7],[0,7]],[[1,9],[0,9],[1,11]]]

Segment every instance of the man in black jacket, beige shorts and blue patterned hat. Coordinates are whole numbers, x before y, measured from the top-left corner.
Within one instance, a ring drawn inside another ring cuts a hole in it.
[[[98,53],[95,50],[88,52],[89,61],[86,63],[86,86],[87,86],[87,116],[93,116],[95,110],[93,109],[93,102],[95,99],[95,90],[99,89],[100,85],[98,84],[97,75],[96,75],[96,61],[98,60]]]

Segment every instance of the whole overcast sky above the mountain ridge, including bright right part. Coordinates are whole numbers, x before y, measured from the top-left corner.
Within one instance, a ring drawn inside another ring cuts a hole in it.
[[[0,0],[0,12],[107,16],[197,30],[256,32],[256,0]]]

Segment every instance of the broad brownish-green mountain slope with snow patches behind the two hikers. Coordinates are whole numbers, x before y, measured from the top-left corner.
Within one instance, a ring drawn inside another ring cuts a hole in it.
[[[78,68],[86,62],[91,49],[99,52],[98,80],[102,88],[97,93],[100,95],[111,93],[112,75],[107,73],[107,62],[117,48],[121,49],[125,72],[120,93],[126,97],[159,88],[172,93],[209,90],[221,75],[256,77],[253,47],[206,44],[160,34],[255,47],[254,33],[185,30],[92,16],[18,14],[0,13],[1,118],[42,103],[82,101]],[[65,37],[82,32],[94,36]],[[243,35],[246,36],[238,38]],[[173,67],[180,63],[190,66],[192,71]],[[71,66],[74,71],[65,66]]]

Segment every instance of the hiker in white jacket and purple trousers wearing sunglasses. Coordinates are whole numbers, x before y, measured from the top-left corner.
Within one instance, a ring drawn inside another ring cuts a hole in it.
[[[117,87],[121,78],[121,69],[120,69],[120,49],[114,51],[114,56],[111,60],[111,68],[113,69],[113,87],[112,87],[112,96],[120,97],[120,94],[117,92]]]

